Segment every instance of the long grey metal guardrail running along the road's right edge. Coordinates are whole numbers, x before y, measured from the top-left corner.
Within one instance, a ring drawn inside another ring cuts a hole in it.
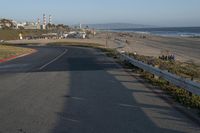
[[[200,83],[197,83],[197,82],[194,82],[191,80],[187,80],[187,79],[179,77],[175,74],[169,73],[168,71],[164,71],[159,68],[155,68],[151,65],[148,65],[141,61],[135,60],[125,54],[120,54],[120,59],[123,61],[127,61],[127,62],[131,63],[132,65],[137,66],[137,67],[139,67],[147,72],[150,72],[156,76],[164,78],[168,82],[170,82],[178,87],[184,88],[193,94],[200,96]]]

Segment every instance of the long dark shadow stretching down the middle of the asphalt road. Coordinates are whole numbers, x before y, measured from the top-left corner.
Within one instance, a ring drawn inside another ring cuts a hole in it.
[[[169,107],[140,103],[134,98],[134,94],[138,92],[130,91],[130,88],[136,89],[132,88],[135,86],[127,87],[123,80],[120,81],[115,74],[112,74],[115,72],[118,73],[117,75],[120,73],[123,75],[121,68],[104,56],[91,57],[94,53],[88,50],[81,54],[76,53],[75,57],[68,57],[63,64],[67,66],[67,71],[71,75],[70,93],[62,96],[65,104],[61,112],[56,112],[58,120],[52,130],[53,133],[185,132],[181,129],[183,125],[167,124],[167,122],[183,124],[181,118],[173,116]],[[56,69],[48,69],[63,70],[59,66]],[[48,69],[46,70],[49,71]],[[140,90],[141,86],[138,87],[137,89]],[[155,118],[151,113],[157,114]],[[156,118],[159,114],[160,118]],[[162,118],[163,115],[168,117]]]

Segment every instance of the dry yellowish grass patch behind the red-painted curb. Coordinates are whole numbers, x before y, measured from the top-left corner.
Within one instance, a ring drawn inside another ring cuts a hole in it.
[[[32,52],[32,49],[0,45],[0,60]]]

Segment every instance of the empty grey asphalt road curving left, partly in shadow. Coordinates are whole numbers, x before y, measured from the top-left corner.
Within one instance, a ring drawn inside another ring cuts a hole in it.
[[[35,48],[0,64],[0,133],[200,132],[99,50]]]

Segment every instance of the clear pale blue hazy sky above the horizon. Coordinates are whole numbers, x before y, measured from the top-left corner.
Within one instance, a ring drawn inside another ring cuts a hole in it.
[[[0,0],[0,18],[35,21],[43,13],[65,24],[200,26],[200,0]]]

